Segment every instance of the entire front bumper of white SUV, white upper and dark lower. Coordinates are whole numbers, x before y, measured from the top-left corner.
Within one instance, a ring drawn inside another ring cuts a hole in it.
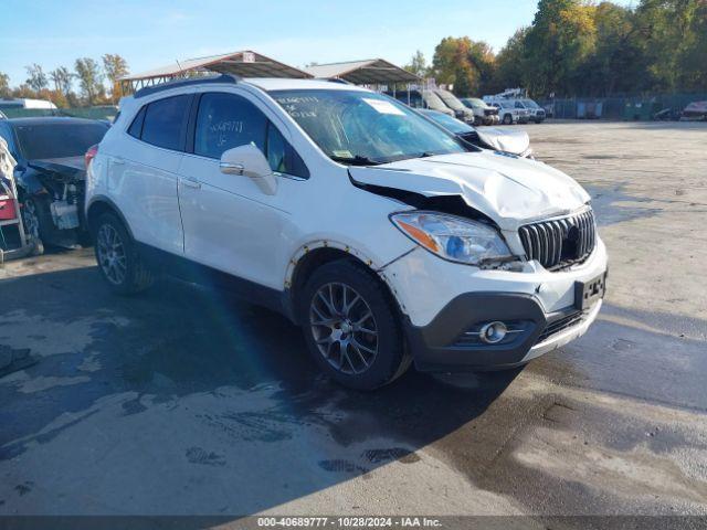
[[[581,265],[550,273],[534,262],[523,272],[483,271],[416,248],[386,267],[404,315],[408,343],[421,371],[511,368],[583,335],[602,301],[576,308],[576,286],[605,275],[601,240]],[[479,329],[502,321],[510,331],[489,344]]]

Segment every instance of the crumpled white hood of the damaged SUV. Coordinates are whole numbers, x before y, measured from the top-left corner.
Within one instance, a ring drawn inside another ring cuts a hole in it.
[[[590,197],[573,179],[542,162],[497,151],[415,158],[376,167],[350,167],[362,184],[426,197],[460,194],[503,230],[570,213]]]

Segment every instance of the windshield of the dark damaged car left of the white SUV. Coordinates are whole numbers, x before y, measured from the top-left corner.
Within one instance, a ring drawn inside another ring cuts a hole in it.
[[[36,124],[15,127],[20,150],[28,160],[80,157],[101,142],[108,126],[95,124]]]

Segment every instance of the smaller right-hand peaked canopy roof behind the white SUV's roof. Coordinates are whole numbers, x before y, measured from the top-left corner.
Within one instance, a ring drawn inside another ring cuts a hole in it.
[[[384,59],[368,59],[345,63],[316,64],[305,68],[315,77],[344,80],[355,85],[390,85],[420,83],[422,80]]]

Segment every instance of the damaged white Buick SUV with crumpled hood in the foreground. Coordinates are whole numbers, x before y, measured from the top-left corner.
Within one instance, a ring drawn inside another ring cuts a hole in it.
[[[117,293],[171,275],[302,326],[338,382],[523,364],[582,335],[606,253],[589,195],[463,145],[386,95],[182,81],[124,98],[88,153],[86,219]]]

